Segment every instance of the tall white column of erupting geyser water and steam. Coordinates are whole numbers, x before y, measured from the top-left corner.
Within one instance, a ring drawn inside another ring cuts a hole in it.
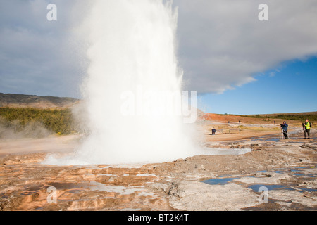
[[[189,124],[178,108],[182,71],[171,3],[97,0],[85,23],[90,46],[83,96],[90,132],[75,157],[59,163],[160,162],[194,155]]]

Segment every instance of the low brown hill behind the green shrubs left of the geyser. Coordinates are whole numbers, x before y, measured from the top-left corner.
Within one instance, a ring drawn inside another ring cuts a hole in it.
[[[0,107],[41,109],[70,108],[79,102],[80,100],[76,98],[0,93]]]

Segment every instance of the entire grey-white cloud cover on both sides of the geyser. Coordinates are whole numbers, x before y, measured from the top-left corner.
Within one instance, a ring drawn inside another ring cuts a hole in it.
[[[75,36],[89,10],[75,7],[77,2],[0,1],[0,92],[76,94],[85,68],[85,47]],[[49,3],[58,7],[56,22],[46,20]],[[268,21],[258,19],[261,3],[173,1],[178,6],[184,89],[221,93],[254,82],[254,75],[285,60],[316,55],[316,0],[266,0]]]

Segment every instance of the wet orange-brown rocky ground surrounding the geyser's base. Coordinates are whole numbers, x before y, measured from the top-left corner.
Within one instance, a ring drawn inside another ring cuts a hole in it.
[[[41,164],[46,154],[69,153],[76,136],[1,141],[0,210],[317,210],[316,139],[302,139],[300,130],[287,140],[276,131],[211,136],[210,126],[202,126],[204,146],[251,150],[147,165],[52,166]]]

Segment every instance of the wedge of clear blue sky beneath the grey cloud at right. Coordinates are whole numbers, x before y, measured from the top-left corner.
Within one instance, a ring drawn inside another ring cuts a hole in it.
[[[199,96],[198,108],[239,115],[317,111],[317,57],[287,61],[255,78],[223,94]]]

